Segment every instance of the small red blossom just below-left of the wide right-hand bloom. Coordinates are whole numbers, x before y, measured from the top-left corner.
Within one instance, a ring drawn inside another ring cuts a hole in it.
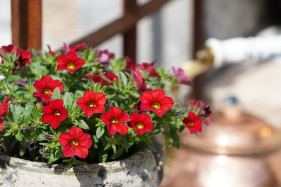
[[[132,113],[130,116],[129,127],[136,129],[137,134],[143,134],[153,130],[150,116],[146,113]]]

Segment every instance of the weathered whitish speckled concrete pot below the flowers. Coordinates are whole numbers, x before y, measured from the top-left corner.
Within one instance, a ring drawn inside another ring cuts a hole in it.
[[[157,186],[162,154],[145,149],[124,160],[63,166],[0,155],[0,186]]]

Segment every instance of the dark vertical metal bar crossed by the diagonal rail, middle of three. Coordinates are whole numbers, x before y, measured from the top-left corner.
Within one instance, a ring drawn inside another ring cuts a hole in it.
[[[136,0],[124,0],[124,15],[136,15],[138,4]],[[127,55],[136,62],[136,25],[124,32],[124,56]]]

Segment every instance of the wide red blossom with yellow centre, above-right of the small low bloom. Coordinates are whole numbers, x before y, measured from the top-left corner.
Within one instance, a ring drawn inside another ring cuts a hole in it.
[[[157,116],[162,116],[173,106],[173,99],[166,97],[164,90],[146,91],[141,95],[141,111],[153,111]]]

